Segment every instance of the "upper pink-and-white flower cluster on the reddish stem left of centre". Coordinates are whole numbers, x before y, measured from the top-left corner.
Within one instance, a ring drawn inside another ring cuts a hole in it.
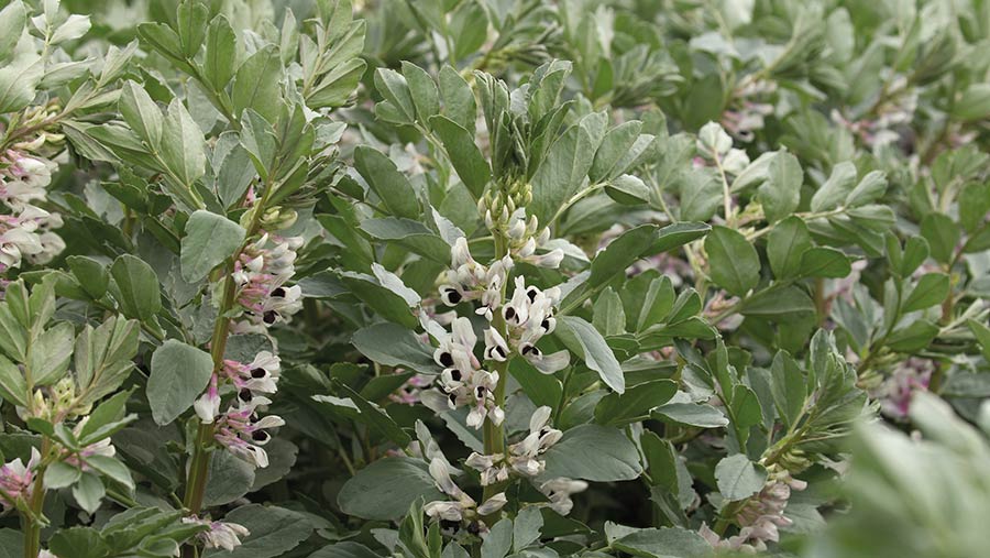
[[[302,307],[299,286],[286,286],[295,273],[296,250],[301,245],[300,237],[263,234],[241,252],[232,278],[246,320],[237,324],[238,331],[262,332],[268,326],[287,321]]]

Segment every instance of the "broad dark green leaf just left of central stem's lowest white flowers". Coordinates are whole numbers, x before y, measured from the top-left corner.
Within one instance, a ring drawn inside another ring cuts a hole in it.
[[[413,502],[442,500],[427,464],[407,457],[381,459],[358,471],[337,496],[341,511],[365,519],[397,519]]]

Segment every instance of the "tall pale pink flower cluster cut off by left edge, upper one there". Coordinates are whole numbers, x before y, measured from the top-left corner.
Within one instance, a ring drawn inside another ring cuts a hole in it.
[[[10,211],[0,215],[0,273],[20,267],[22,260],[44,264],[65,249],[53,229],[62,217],[34,204],[47,198],[52,163],[22,151],[0,153],[0,201]]]

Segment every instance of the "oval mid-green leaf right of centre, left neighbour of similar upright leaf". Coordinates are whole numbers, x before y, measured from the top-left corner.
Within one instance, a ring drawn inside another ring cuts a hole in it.
[[[736,296],[744,296],[760,282],[760,259],[740,232],[713,227],[705,238],[705,251],[715,284]]]

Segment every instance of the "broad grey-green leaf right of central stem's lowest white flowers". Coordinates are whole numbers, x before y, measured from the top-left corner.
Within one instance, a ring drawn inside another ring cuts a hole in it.
[[[594,451],[588,451],[594,448]],[[622,430],[601,425],[581,425],[565,431],[547,450],[542,478],[568,477],[595,482],[629,481],[642,473],[639,452]]]

